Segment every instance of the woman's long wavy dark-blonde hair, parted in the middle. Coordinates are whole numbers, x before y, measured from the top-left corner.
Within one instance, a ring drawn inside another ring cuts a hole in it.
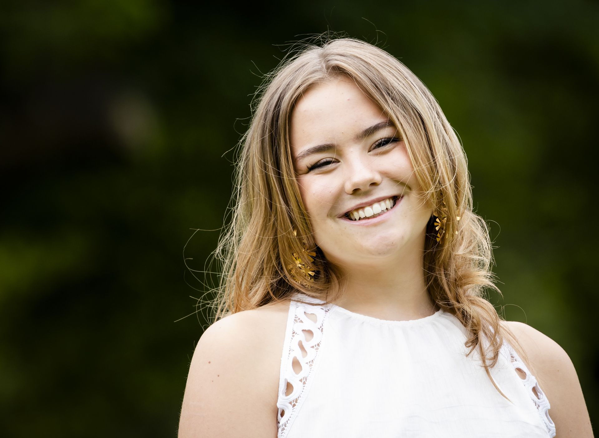
[[[340,75],[351,78],[394,122],[425,200],[435,211],[446,207],[442,244],[435,238],[432,217],[427,228],[423,267],[428,293],[462,322],[469,334],[467,355],[477,349],[489,379],[506,397],[489,371],[504,336],[528,358],[484,296],[489,290],[501,291],[491,272],[488,226],[473,212],[464,150],[422,81],[385,50],[353,38],[304,41],[266,75],[256,92],[249,129],[240,142],[231,222],[214,252],[222,262],[219,288],[213,291],[214,321],[288,301],[297,291],[326,303],[343,294],[343,278],[313,241],[289,146],[295,103],[314,84]],[[311,282],[294,272],[292,254],[301,253],[304,244],[316,252],[313,262],[303,261],[316,273]]]

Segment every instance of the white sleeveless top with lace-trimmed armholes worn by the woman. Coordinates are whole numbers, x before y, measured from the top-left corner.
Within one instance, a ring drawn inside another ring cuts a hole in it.
[[[319,305],[289,306],[278,438],[555,436],[549,401],[507,342],[490,371],[513,403],[495,389],[477,350],[465,357],[467,331],[443,309],[386,321],[295,298]]]

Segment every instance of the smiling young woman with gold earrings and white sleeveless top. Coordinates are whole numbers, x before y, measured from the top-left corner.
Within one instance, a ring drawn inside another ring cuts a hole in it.
[[[483,298],[464,151],[397,59],[339,38],[284,61],[237,182],[181,438],[592,436],[568,355]]]

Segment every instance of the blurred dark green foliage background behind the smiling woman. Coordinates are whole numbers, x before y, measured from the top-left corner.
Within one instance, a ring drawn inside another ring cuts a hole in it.
[[[252,93],[327,30],[377,43],[438,99],[497,246],[491,301],[567,351],[596,424],[598,22],[576,0],[3,2],[0,434],[176,434],[206,324],[181,318]]]

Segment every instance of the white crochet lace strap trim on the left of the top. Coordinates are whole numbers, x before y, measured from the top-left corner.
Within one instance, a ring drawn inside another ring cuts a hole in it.
[[[328,311],[328,307],[310,306],[310,304],[291,301],[289,309],[291,329],[288,327],[291,334],[288,333],[289,339],[285,343],[286,352],[284,351],[281,364],[277,400],[279,408],[277,437],[279,438],[285,437],[288,433],[295,413],[304,400],[308,379],[314,370],[314,363],[320,349],[323,322]]]

